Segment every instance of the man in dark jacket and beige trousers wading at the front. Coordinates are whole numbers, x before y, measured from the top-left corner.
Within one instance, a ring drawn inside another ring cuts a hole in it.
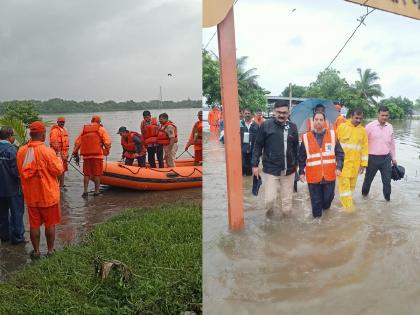
[[[258,164],[262,155],[267,214],[273,212],[280,194],[282,212],[289,215],[298,163],[299,135],[296,125],[288,120],[287,104],[277,102],[273,112],[274,117],[266,120],[258,130],[252,155],[252,174],[259,176]]]

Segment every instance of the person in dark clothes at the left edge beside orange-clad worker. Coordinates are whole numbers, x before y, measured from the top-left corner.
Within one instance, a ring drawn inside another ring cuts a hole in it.
[[[0,239],[12,244],[25,243],[23,195],[16,166],[17,148],[13,129],[0,129]]]

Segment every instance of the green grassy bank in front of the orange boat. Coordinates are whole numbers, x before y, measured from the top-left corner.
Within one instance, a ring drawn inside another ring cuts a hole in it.
[[[95,259],[134,274],[102,281]],[[202,303],[201,205],[129,209],[0,284],[0,314],[180,314]]]

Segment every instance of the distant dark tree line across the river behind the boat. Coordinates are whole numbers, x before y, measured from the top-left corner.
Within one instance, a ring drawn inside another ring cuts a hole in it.
[[[179,102],[153,100],[148,102],[115,102],[106,101],[96,103],[94,101],[72,101],[61,98],[53,98],[47,101],[39,100],[13,100],[0,102],[0,116],[4,115],[9,108],[31,107],[40,114],[58,114],[58,113],[95,113],[146,109],[175,109],[175,108],[200,108],[201,100],[183,100]]]

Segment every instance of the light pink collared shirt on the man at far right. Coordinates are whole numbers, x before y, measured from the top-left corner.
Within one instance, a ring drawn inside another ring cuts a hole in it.
[[[387,155],[395,160],[394,129],[390,123],[381,125],[378,120],[368,123],[365,127],[368,135],[369,154]]]

